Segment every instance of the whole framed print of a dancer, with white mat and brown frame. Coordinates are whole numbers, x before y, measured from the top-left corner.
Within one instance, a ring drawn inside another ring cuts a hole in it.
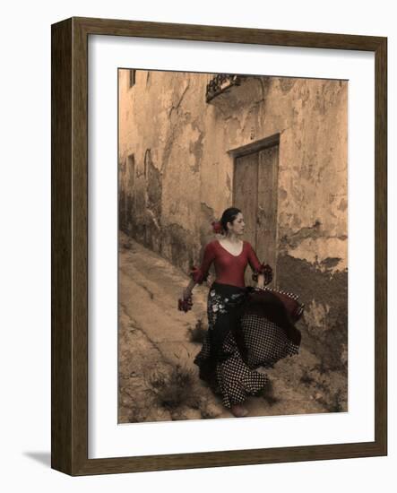
[[[52,26],[52,467],[387,454],[385,38]]]

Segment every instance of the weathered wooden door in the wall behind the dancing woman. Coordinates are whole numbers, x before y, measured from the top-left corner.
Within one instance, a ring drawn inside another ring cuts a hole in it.
[[[270,264],[273,282],[277,262],[277,188],[279,146],[272,145],[235,159],[234,205],[246,221],[244,238],[254,247],[260,262]],[[253,284],[246,269],[246,285]]]

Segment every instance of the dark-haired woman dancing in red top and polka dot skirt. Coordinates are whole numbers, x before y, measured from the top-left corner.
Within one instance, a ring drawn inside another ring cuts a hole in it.
[[[212,224],[224,238],[206,245],[200,268],[193,267],[190,272],[192,280],[183,299],[190,302],[190,308],[194,286],[207,279],[213,263],[216,279],[208,293],[208,331],[194,363],[200,378],[221,395],[223,405],[234,416],[243,417],[247,414],[242,405],[246,396],[257,394],[269,382],[255,368],[272,367],[279,359],[298,353],[300,333],[294,321],[303,306],[294,295],[264,288],[265,278],[271,281],[271,269],[259,262],[247,241],[240,239],[245,222],[239,209],[226,209],[220,222]],[[256,289],[245,286],[247,264],[257,281]],[[289,303],[293,304],[291,309]]]

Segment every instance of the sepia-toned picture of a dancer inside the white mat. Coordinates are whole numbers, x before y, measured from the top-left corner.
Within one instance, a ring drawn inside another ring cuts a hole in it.
[[[119,424],[349,411],[349,81],[118,67]]]

